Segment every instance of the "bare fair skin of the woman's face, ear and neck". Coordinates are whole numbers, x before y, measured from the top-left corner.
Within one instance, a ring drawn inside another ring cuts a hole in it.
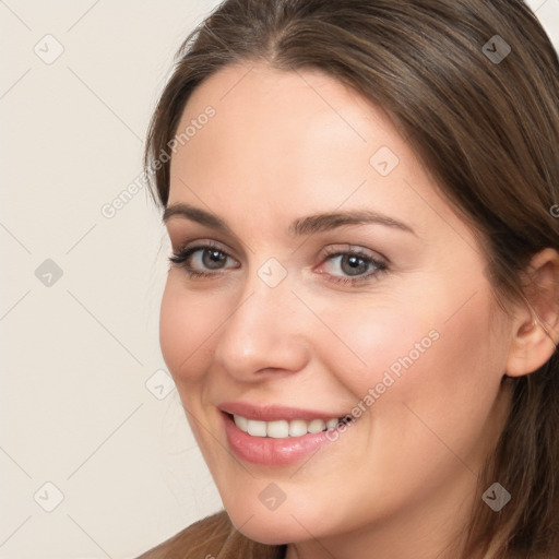
[[[512,317],[497,307],[472,231],[382,110],[320,72],[251,68],[227,67],[194,91],[178,130],[207,105],[216,114],[171,159],[168,205],[212,212],[233,231],[166,224],[174,250],[212,240],[230,255],[221,270],[202,251],[190,259],[212,277],[171,265],[162,302],[162,350],[193,433],[233,523],[289,543],[288,559],[455,558],[448,546],[509,409],[503,374],[534,371],[554,345],[525,306]],[[381,146],[400,159],[385,177],[369,163]],[[362,209],[415,235],[378,224],[287,233],[302,216]],[[332,282],[350,270],[324,249],[348,245],[389,270]],[[287,273],[273,288],[257,273],[270,258]],[[555,324],[555,309],[540,308]],[[433,329],[438,340],[307,462],[259,466],[227,450],[218,403],[344,415]],[[259,500],[272,481],[286,496],[274,511]]]

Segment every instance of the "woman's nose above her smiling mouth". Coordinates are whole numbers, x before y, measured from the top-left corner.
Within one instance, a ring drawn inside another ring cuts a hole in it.
[[[270,287],[251,275],[216,332],[216,364],[241,382],[304,369],[310,348],[305,307],[287,280]]]

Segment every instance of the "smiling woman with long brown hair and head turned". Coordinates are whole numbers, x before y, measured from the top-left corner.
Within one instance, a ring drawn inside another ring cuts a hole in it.
[[[224,503],[155,558],[559,557],[559,63],[521,0],[227,0],[146,169]]]

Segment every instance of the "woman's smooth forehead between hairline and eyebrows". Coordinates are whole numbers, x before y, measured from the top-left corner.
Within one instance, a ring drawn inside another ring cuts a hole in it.
[[[226,67],[194,90],[177,134],[188,127],[169,203],[203,200],[260,227],[302,209],[367,207],[424,237],[457,219],[388,115],[320,71]]]

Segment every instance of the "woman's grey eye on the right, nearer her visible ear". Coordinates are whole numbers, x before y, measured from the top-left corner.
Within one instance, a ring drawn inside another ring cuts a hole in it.
[[[333,283],[357,284],[377,278],[380,274],[388,272],[388,263],[372,257],[362,249],[328,249],[324,254],[325,272],[319,273],[331,276]],[[341,271],[342,274],[336,273]]]

